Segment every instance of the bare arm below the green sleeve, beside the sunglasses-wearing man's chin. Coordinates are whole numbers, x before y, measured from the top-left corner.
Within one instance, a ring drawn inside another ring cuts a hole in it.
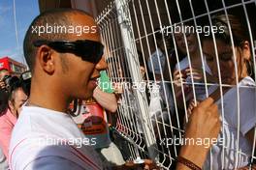
[[[113,113],[117,110],[117,102],[114,94],[103,92],[99,87],[96,87],[93,91],[93,98],[110,112]]]

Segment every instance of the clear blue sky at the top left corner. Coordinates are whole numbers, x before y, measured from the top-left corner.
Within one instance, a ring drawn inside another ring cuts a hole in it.
[[[14,0],[0,0],[0,58],[9,56],[23,63],[22,43],[25,32],[33,18],[39,14],[38,0],[16,1],[16,27],[14,17]]]

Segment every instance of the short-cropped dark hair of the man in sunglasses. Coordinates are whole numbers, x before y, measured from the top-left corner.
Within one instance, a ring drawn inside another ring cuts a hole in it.
[[[46,41],[62,41],[67,40],[69,38],[68,34],[65,33],[59,33],[59,34],[37,34],[33,33],[33,30],[39,26],[45,26],[45,25],[61,25],[61,26],[68,26],[72,25],[74,22],[70,19],[70,14],[87,14],[83,11],[77,10],[77,9],[54,9],[46,11],[45,13],[42,13],[38,15],[30,24],[25,39],[23,42],[23,51],[24,56],[26,59],[26,63],[28,67],[30,68],[30,71],[34,71],[34,65],[35,65],[35,55],[36,55],[36,47],[33,45],[33,42],[37,40],[46,40]]]

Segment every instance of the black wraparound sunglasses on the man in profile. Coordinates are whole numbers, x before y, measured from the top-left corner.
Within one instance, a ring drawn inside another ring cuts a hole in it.
[[[53,48],[57,52],[66,53],[70,52],[84,61],[97,64],[103,55],[104,45],[101,42],[94,42],[89,40],[78,40],[75,42],[70,41],[45,41],[40,40],[33,42],[34,46],[39,47],[43,44],[47,44],[49,47]]]

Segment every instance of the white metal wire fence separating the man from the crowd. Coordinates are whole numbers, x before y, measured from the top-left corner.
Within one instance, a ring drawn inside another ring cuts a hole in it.
[[[175,169],[193,105],[212,97],[222,128],[204,169],[255,161],[255,10],[255,0],[115,0],[96,18],[125,159]]]

